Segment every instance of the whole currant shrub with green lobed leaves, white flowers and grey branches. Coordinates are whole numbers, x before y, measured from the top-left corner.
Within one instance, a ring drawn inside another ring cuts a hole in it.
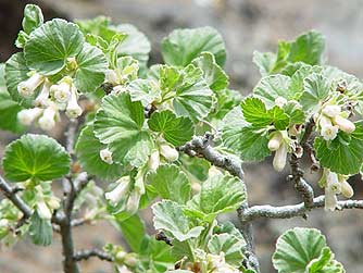
[[[228,87],[225,45],[211,27],[174,30],[161,44],[164,63],[148,66],[150,42],[134,26],[102,16],[43,22],[28,4],[15,45],[0,66],[0,127],[23,134],[2,158],[3,245],[29,236],[49,246],[59,233],[65,273],[90,257],[118,273],[259,273],[254,220],[363,208],[337,198],[353,196],[347,179],[363,163],[363,85],[323,62],[317,32],[254,52],[262,78],[245,98]],[[65,123],[64,147],[24,133]],[[287,185],[302,203],[249,206],[242,162],[272,154],[277,172],[289,165]],[[322,196],[304,179],[303,156]],[[148,208],[154,234],[139,213]],[[236,226],[218,220],[233,211]],[[97,221],[127,246],[75,250],[73,228]],[[272,261],[279,273],[345,272],[314,228],[283,234]]]

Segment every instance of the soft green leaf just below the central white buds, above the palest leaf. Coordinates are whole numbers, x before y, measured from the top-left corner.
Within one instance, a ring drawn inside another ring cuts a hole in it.
[[[188,177],[174,164],[160,165],[157,172],[148,174],[147,181],[163,199],[180,204],[190,199],[191,186]]]

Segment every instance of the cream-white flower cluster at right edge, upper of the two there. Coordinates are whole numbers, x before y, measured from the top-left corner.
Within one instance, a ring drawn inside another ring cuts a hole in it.
[[[337,137],[339,129],[348,134],[355,129],[354,123],[347,117],[348,113],[343,112],[340,106],[327,104],[314,120],[322,137],[325,140],[333,140]]]

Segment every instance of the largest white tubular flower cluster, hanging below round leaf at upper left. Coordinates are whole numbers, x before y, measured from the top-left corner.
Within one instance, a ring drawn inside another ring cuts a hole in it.
[[[43,131],[51,131],[60,119],[60,111],[65,111],[70,119],[78,117],[83,110],[78,106],[77,88],[73,79],[63,77],[57,84],[38,73],[32,72],[30,77],[17,85],[17,91],[24,99],[34,97],[39,88],[37,97],[33,101],[34,108],[25,109],[17,113],[18,121],[24,125],[37,122]]]

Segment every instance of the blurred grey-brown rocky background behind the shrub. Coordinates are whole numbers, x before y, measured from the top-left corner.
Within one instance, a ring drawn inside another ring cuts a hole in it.
[[[0,0],[0,61],[16,50],[13,41],[21,28],[23,8],[30,1]],[[326,36],[326,59],[348,73],[363,78],[363,0],[37,0],[46,18],[87,18],[108,15],[115,23],[130,23],[147,34],[152,42],[150,63],[159,62],[161,38],[177,27],[210,25],[225,38],[228,57],[227,73],[231,86],[243,95],[259,80],[252,63],[253,50],[275,51],[279,39],[293,39],[302,32],[315,28]],[[1,114],[1,113],[0,113]],[[62,141],[61,129],[52,135]],[[16,138],[0,134],[0,156],[3,147]],[[292,185],[286,182],[287,173],[277,174],[271,164],[247,164],[246,183],[251,204],[288,204],[300,202]],[[306,175],[316,181],[306,164]],[[355,198],[363,198],[363,182],[351,181]],[[316,188],[316,194],[322,190]],[[148,218],[148,215],[146,215]],[[233,218],[233,215],[231,215]],[[363,212],[345,211],[309,213],[308,221],[259,220],[255,222],[256,252],[262,273],[275,272],[271,263],[276,238],[292,226],[317,227],[327,236],[348,273],[363,271]],[[14,249],[0,249],[0,272],[61,272],[60,241],[51,247],[35,247],[21,243]],[[111,226],[100,223],[77,227],[77,247],[102,246],[121,241],[121,235]],[[82,264],[85,273],[111,272],[105,262],[89,260]]]

